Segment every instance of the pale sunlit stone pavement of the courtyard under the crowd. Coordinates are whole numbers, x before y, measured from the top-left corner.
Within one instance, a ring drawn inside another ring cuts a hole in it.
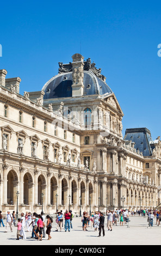
[[[147,217],[141,216],[131,217],[129,228],[127,228],[127,224],[120,227],[120,223],[117,222],[118,226],[113,226],[113,231],[107,231],[106,225],[104,237],[97,237],[98,232],[91,227],[88,228],[88,231],[82,231],[80,217],[73,218],[72,224],[73,229],[70,232],[65,232],[64,228],[61,232],[57,232],[55,231],[56,223],[53,223],[52,239],[47,240],[48,236],[46,235],[43,241],[30,238],[31,232],[26,232],[26,240],[16,240],[17,228],[13,227],[12,233],[8,228],[8,232],[4,233],[5,228],[1,225],[0,245],[161,245],[161,225],[157,227],[156,218],[154,218],[153,228],[147,228]],[[107,217],[105,224],[107,224]]]

